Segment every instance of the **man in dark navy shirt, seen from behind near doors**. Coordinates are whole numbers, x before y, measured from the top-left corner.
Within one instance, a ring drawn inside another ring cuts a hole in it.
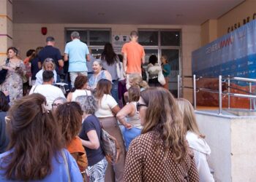
[[[57,72],[57,80],[56,82],[60,82],[59,75],[61,74],[59,71],[59,67],[64,66],[64,61],[62,60],[61,52],[58,48],[54,47],[55,39],[52,36],[48,36],[46,38],[46,46],[39,52],[39,68],[42,68],[42,63],[46,58],[52,58],[55,63],[55,70]]]

